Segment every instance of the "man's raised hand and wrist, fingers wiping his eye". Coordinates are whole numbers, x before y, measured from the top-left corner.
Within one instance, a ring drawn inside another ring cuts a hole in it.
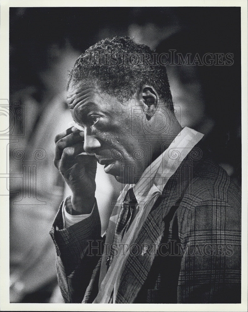
[[[80,135],[81,134],[81,135]],[[78,155],[84,152],[84,132],[69,128],[55,137],[54,165],[72,190],[72,206],[78,214],[92,211],[95,200],[95,156]]]

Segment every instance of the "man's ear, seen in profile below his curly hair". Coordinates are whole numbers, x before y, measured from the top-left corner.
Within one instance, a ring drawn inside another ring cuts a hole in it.
[[[143,102],[144,112],[149,120],[157,109],[159,95],[150,85],[143,85],[137,93],[139,101]]]

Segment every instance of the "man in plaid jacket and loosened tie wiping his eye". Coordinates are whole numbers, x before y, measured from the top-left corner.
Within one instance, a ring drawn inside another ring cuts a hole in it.
[[[149,47],[105,39],[68,82],[75,127],[54,163],[71,188],[50,232],[68,303],[240,302],[240,191],[181,128]],[[83,153],[83,154],[82,154]],[[101,236],[96,164],[125,183]]]

